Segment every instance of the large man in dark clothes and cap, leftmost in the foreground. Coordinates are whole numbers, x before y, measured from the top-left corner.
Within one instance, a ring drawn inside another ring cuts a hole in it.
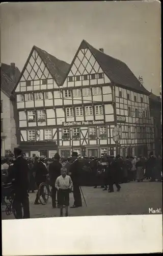
[[[13,208],[16,211],[16,219],[28,219],[30,218],[30,206],[29,206],[29,178],[28,178],[28,162],[22,157],[22,151],[20,148],[14,148],[15,161],[11,172],[9,173],[9,181],[14,180],[14,201]],[[23,207],[23,216],[22,209]]]

